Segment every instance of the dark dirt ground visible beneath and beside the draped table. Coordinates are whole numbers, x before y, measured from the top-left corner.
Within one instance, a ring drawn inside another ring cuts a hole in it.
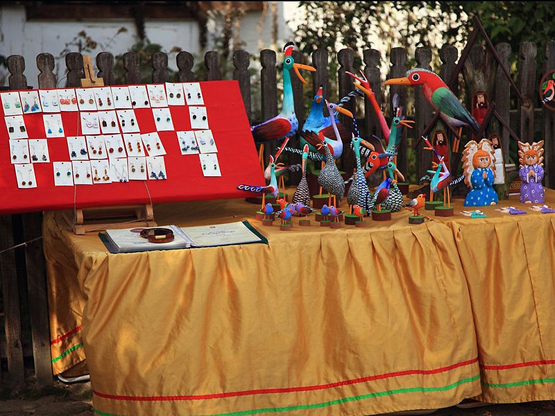
[[[19,390],[10,391],[6,388],[0,390],[0,416],[28,415],[93,416],[91,385],[90,383],[65,385],[56,382],[49,388],[34,388],[31,385]],[[398,416],[400,413],[396,413],[395,415]],[[468,409],[461,409],[453,406],[436,410],[432,415],[555,416],[555,402],[532,401],[529,403],[496,404]]]

